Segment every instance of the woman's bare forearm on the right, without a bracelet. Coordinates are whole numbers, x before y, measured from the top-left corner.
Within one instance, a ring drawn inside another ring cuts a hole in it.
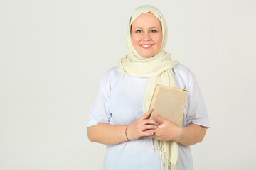
[[[206,135],[206,127],[201,125],[190,124],[186,127],[181,127],[181,133],[176,140],[176,142],[181,143],[182,145],[194,145],[203,140],[203,137]]]

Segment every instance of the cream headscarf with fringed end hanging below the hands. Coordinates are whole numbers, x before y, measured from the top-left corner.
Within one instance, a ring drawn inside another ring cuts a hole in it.
[[[142,13],[151,12],[161,22],[163,33],[162,43],[159,52],[150,58],[144,58],[132,46],[131,26],[133,21]],[[174,72],[172,68],[178,61],[171,60],[171,55],[164,51],[167,39],[167,26],[164,16],[154,6],[140,6],[131,15],[127,28],[127,37],[125,46],[127,49],[126,57],[122,58],[118,63],[118,67],[125,74],[134,77],[148,77],[146,91],[144,95],[143,111],[146,113],[149,110],[151,97],[156,84],[166,86],[176,86],[174,80]],[[156,148],[159,149],[161,155],[162,169],[178,169],[178,144],[175,141],[162,142],[157,140]]]

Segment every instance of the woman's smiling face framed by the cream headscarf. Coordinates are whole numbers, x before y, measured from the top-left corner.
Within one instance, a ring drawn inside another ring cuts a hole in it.
[[[142,57],[156,55],[160,50],[162,37],[161,23],[152,13],[142,13],[132,23],[132,45]]]

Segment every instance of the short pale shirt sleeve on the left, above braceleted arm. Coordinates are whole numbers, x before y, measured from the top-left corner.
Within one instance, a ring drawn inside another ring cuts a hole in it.
[[[94,101],[90,106],[87,127],[97,125],[98,123],[109,123],[109,97],[110,97],[110,80],[105,74],[100,80],[100,88],[97,91]]]

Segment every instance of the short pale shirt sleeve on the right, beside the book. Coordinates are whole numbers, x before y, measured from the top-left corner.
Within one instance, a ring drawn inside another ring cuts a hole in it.
[[[186,115],[186,125],[191,123],[210,128],[210,121],[208,119],[208,112],[206,104],[203,101],[201,89],[199,88],[196,78],[188,86],[188,114]]]

